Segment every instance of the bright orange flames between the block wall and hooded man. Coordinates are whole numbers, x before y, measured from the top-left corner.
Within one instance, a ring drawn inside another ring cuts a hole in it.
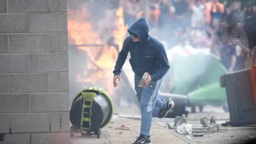
[[[95,87],[103,88],[109,94],[113,94],[113,69],[118,56],[114,46],[108,46],[99,34],[94,30],[90,22],[86,21],[86,12],[82,9],[70,11],[68,19],[69,43],[74,45],[101,44],[102,46],[78,46],[77,49],[86,52],[87,69],[83,74],[77,75],[78,83],[91,83]],[[123,7],[116,11],[116,28],[113,30],[114,42],[122,49],[126,37],[127,26],[124,23]],[[75,65],[75,63],[74,63]],[[84,78],[85,77],[85,78]]]

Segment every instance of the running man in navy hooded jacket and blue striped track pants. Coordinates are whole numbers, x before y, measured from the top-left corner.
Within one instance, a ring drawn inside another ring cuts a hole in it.
[[[163,76],[170,68],[169,61],[164,46],[157,39],[150,37],[149,28],[144,18],[133,23],[128,30],[130,36],[126,37],[123,48],[116,61],[113,84],[117,86],[117,80],[120,81],[121,69],[130,52],[129,60],[132,70],[135,74],[135,91],[140,101],[141,108],[141,128],[140,135],[134,144],[150,144],[150,128],[152,113],[154,107],[159,107],[158,118],[163,118],[173,109],[174,102],[164,102],[157,98],[157,92],[161,85]],[[143,81],[144,87],[139,87],[143,74],[146,73],[148,78]]]

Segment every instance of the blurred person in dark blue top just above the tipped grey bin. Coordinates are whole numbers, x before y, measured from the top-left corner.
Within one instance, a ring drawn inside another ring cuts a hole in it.
[[[226,39],[224,39],[224,41],[225,40]],[[228,72],[234,71],[236,65],[236,50],[231,38],[227,39],[227,42],[225,42],[225,45],[220,49],[218,55],[220,55],[222,64],[227,68]]]

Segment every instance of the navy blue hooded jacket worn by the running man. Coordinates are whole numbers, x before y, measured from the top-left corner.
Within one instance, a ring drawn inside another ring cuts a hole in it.
[[[149,28],[144,18],[135,22],[128,31],[137,35],[140,42],[133,42],[131,36],[126,37],[116,61],[114,75],[120,75],[127,54],[130,52],[129,61],[135,75],[142,77],[147,72],[151,75],[152,82],[158,81],[170,68],[163,44],[149,36]]]

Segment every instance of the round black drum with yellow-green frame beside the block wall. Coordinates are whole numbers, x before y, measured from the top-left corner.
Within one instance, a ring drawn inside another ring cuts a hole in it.
[[[101,129],[111,121],[113,111],[113,101],[105,91],[85,87],[71,104],[70,137],[74,137],[74,133],[81,133],[82,136],[95,134],[100,138]]]

